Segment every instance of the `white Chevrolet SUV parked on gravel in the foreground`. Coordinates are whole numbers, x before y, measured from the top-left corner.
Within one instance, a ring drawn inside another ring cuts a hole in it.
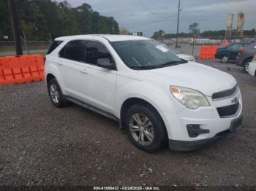
[[[142,36],[57,38],[45,77],[54,106],[72,101],[118,120],[146,152],[167,142],[170,149],[197,149],[242,122],[236,79]]]

